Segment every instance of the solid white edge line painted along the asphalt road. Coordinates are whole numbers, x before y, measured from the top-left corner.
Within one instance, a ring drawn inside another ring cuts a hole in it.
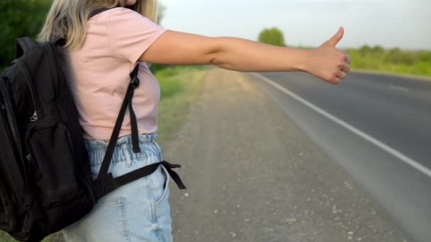
[[[250,74],[256,76],[257,78],[261,79],[262,81],[265,81],[269,85],[274,86],[274,88],[279,89],[279,91],[286,93],[287,95],[291,96],[291,98],[297,100],[298,102],[302,103],[303,105],[306,105],[308,108],[315,110],[315,112],[320,113],[321,115],[323,115],[325,117],[328,117],[328,119],[332,120],[333,122],[336,122],[338,125],[345,127],[346,129],[353,132],[354,134],[357,134],[359,137],[366,139],[367,141],[378,146],[379,148],[383,149],[384,151],[395,156],[396,158],[400,159],[401,161],[407,163],[409,166],[412,166],[413,168],[417,169],[418,171],[424,173],[425,175],[427,175],[428,177],[431,178],[431,170],[425,166],[422,166],[418,161],[411,159],[410,157],[406,156],[405,154],[402,154],[400,151],[393,149],[391,146],[384,144],[383,142],[379,141],[378,139],[371,137],[369,134],[362,132],[361,130],[353,127],[352,125],[349,125],[347,122],[340,120],[339,118],[331,115],[330,113],[326,112],[325,110],[318,108],[317,106],[313,105],[313,103],[310,103],[310,102],[308,102],[308,100],[305,100],[305,99],[301,98],[300,96],[296,95],[295,93],[292,93],[291,91],[287,90],[283,86],[280,86],[278,83],[272,81],[271,79],[268,79],[267,77],[262,76],[261,74],[258,74],[258,73],[250,73]]]

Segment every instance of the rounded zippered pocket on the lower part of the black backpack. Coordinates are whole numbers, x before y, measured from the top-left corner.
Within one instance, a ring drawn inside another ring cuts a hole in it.
[[[28,130],[26,144],[43,207],[72,200],[78,183],[67,127],[55,120],[40,120]]]

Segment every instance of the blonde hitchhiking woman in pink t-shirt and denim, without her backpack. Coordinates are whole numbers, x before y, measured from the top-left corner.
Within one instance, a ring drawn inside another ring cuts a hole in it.
[[[90,13],[109,8],[96,16]],[[130,145],[125,116],[111,163],[114,176],[162,160],[157,137],[159,86],[147,62],[211,64],[236,71],[306,71],[330,83],[349,72],[349,57],[335,48],[343,29],[315,50],[274,47],[239,38],[208,38],[166,30],[155,23],[156,0],[54,0],[40,41],[67,39],[72,92],[84,129],[93,175],[121,107],[130,71],[138,63],[140,86],[133,107],[140,154]],[[172,241],[169,175],[155,173],[101,198],[93,211],[64,229],[67,241]]]

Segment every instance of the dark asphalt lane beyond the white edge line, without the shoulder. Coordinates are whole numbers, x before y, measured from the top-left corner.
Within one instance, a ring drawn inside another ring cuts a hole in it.
[[[303,73],[264,76],[431,168],[431,81],[352,73],[333,86]]]

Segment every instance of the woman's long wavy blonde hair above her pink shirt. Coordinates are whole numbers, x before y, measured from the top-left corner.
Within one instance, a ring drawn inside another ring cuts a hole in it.
[[[38,35],[39,42],[65,38],[66,47],[80,47],[85,39],[86,21],[91,11],[99,8],[125,7],[126,0],[54,0],[45,24]],[[134,11],[157,22],[157,0],[137,0]]]

